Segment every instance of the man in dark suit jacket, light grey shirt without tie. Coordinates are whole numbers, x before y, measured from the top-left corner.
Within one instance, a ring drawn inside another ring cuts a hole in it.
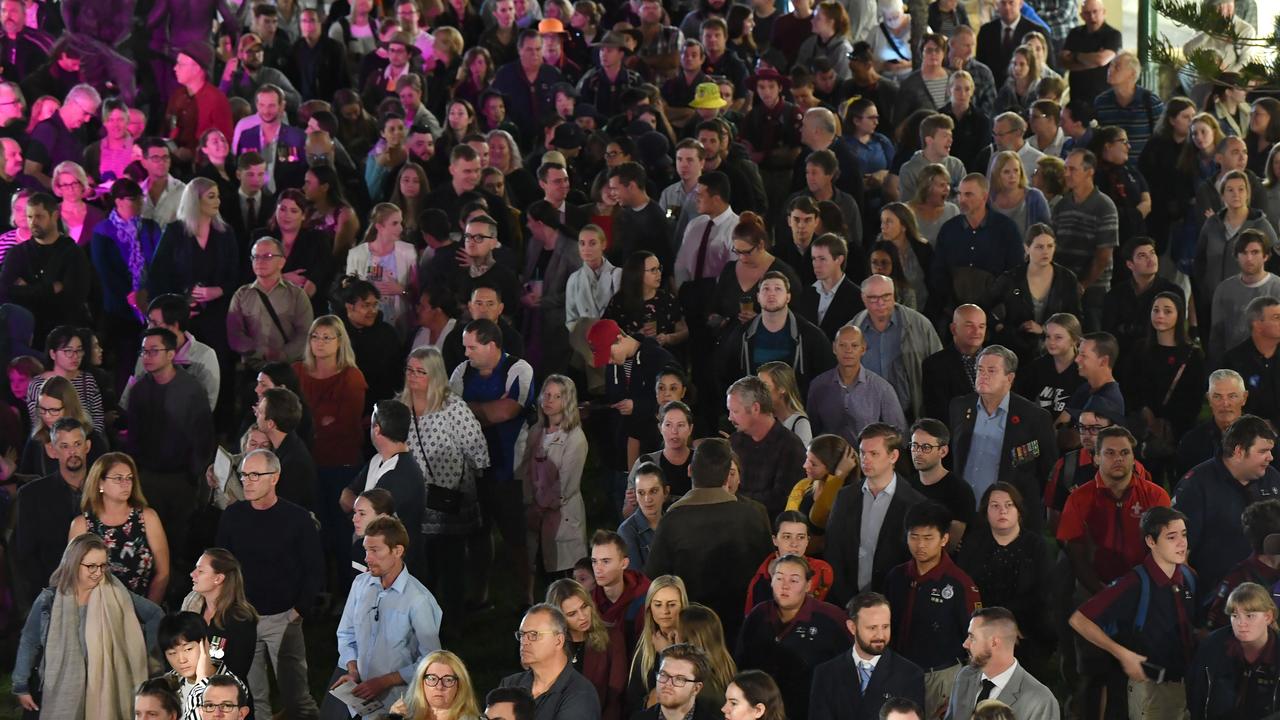
[[[893,471],[902,448],[902,433],[884,423],[863,428],[858,438],[863,461],[863,483],[847,486],[836,495],[827,521],[827,561],[835,570],[829,601],[844,603],[859,592],[879,588],[891,568],[910,559],[902,519],[908,507],[924,501],[906,478]],[[870,503],[868,512],[863,506]],[[864,518],[879,528],[863,532]],[[666,519],[663,519],[666,521]],[[863,547],[864,534],[874,534],[873,547]],[[870,562],[863,562],[863,553]]]

